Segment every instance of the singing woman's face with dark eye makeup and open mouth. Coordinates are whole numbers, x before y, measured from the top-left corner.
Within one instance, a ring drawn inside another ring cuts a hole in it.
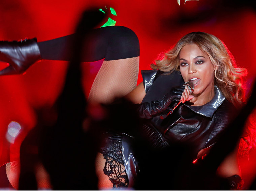
[[[180,51],[180,71],[185,82],[192,81],[195,97],[211,97],[214,91],[214,66],[208,57],[196,44],[182,47]]]

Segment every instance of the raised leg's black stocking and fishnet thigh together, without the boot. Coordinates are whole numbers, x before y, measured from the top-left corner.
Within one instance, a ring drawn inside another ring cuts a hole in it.
[[[42,59],[69,61],[76,50],[76,47],[72,47],[75,35],[39,42]],[[90,89],[89,102],[109,103],[115,97],[122,97],[136,87],[139,41],[131,29],[108,26],[89,30],[81,49],[81,62],[104,58]]]

